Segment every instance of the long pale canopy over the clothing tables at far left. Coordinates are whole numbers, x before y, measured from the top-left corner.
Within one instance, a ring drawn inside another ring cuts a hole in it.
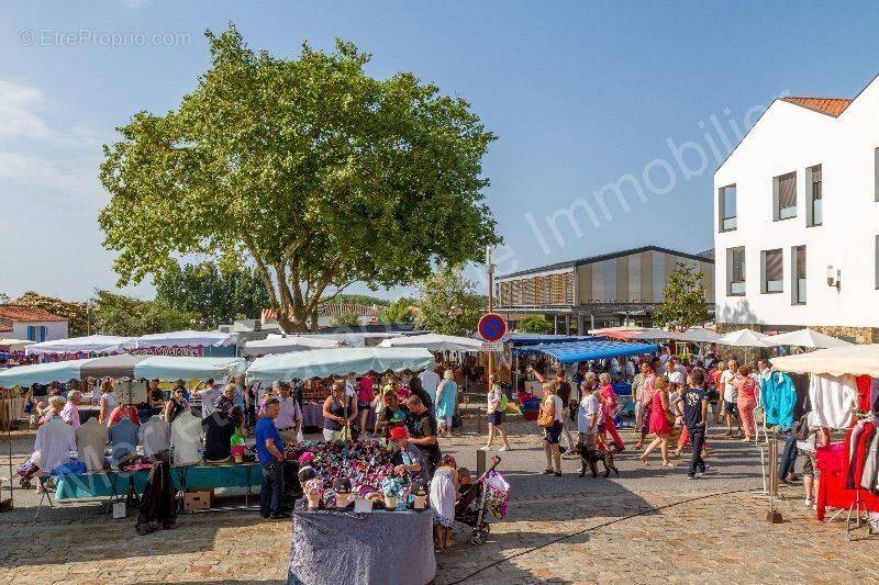
[[[247,369],[244,358],[190,358],[179,356],[108,356],[85,360],[19,365],[0,372],[0,387],[51,384],[84,378],[145,378],[147,380],[223,380]]]

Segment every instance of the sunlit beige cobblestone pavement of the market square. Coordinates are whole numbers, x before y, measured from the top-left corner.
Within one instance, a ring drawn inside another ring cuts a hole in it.
[[[622,476],[565,475],[543,468],[533,427],[516,428],[513,450],[499,468],[513,487],[509,513],[481,547],[456,525],[453,551],[437,556],[436,583],[850,583],[879,581],[877,541],[846,542],[845,527],[816,522],[799,488],[778,505],[785,522],[766,521],[753,445],[714,439],[711,473],[688,481],[683,462],[642,466],[634,453],[617,457]],[[631,440],[631,436],[624,435]],[[26,450],[32,437],[14,441]],[[475,469],[476,436],[444,442]],[[8,472],[5,473],[8,477]],[[290,525],[254,513],[183,515],[170,531],[137,537],[134,520],[112,520],[96,505],[44,510],[16,491],[16,509],[0,515],[0,582],[124,583],[281,582]],[[866,536],[866,532],[861,532]]]

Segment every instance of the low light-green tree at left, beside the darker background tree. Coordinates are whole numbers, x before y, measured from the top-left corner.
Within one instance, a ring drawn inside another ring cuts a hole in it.
[[[191,329],[199,315],[171,308],[156,301],[97,291],[92,301],[92,322],[104,335],[140,337],[142,335]]]

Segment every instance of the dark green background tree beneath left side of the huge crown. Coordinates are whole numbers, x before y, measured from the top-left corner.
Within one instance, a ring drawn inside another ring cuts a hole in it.
[[[199,327],[213,329],[236,318],[259,318],[270,306],[268,293],[248,266],[221,270],[214,262],[171,266],[153,281],[156,302],[199,315]]]

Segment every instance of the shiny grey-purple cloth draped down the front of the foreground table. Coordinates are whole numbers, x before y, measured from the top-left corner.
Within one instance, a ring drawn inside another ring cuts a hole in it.
[[[433,513],[293,513],[288,584],[423,585],[436,575]]]

